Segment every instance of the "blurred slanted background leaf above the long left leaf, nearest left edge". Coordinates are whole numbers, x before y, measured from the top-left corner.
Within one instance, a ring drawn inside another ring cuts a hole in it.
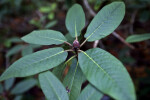
[[[11,48],[7,54],[6,54],[6,57],[10,57],[18,52],[20,52],[25,46],[24,45],[16,45],[14,46],[13,48]]]

